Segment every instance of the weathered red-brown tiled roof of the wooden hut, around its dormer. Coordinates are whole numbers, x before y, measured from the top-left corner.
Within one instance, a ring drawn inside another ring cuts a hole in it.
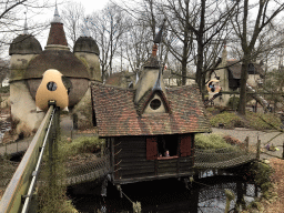
[[[93,83],[93,106],[100,136],[209,132],[204,105],[196,87],[166,89],[171,113],[136,112],[134,90]]]

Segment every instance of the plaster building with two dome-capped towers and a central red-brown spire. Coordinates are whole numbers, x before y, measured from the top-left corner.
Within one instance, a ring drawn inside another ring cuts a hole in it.
[[[92,125],[91,81],[101,81],[99,48],[91,37],[80,37],[71,52],[63,23],[55,8],[49,38],[42,51],[39,41],[27,30],[17,37],[10,45],[11,55],[11,113],[19,120],[21,128],[32,131],[38,129],[44,112],[36,110],[36,93],[42,74],[54,69],[64,77],[63,82],[69,90],[69,109],[77,114],[80,124]],[[80,122],[81,121],[81,122]],[[83,128],[83,126],[81,126]]]

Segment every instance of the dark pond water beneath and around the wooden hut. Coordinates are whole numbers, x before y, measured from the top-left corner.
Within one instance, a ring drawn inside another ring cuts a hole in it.
[[[260,195],[254,184],[245,182],[240,176],[207,176],[195,181],[192,184],[189,182],[187,189],[183,181],[168,179],[122,185],[122,191],[131,201],[141,202],[143,213],[223,213],[226,203],[224,189],[232,190],[235,194],[235,200],[230,205],[231,212],[235,212],[235,204],[239,200],[244,197],[247,205]],[[87,184],[85,186],[89,192],[93,193],[84,194],[83,187],[81,187],[81,194],[69,190],[79,212],[94,213],[98,210],[118,213],[133,212],[132,203],[125,196],[120,197],[120,192],[112,184],[108,186],[106,197],[99,195],[99,185]],[[97,195],[95,191],[99,192]]]

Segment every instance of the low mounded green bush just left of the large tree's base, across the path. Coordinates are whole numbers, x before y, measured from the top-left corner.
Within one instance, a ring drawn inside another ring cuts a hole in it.
[[[210,120],[210,124],[214,128],[217,128],[220,123],[223,123],[225,128],[242,128],[244,123],[242,120],[235,114],[230,112],[223,112],[221,114],[216,114],[212,116]]]

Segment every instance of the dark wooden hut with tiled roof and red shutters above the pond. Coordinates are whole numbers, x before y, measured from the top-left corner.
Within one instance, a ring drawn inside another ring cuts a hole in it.
[[[192,175],[194,134],[210,132],[199,89],[166,89],[156,49],[134,89],[92,84],[94,116],[111,151],[115,185]]]

